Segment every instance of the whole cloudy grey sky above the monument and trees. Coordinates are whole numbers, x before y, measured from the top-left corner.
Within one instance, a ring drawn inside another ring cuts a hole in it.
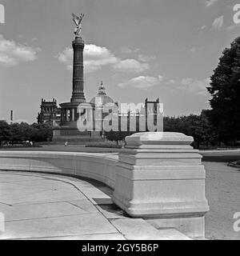
[[[84,13],[86,100],[103,81],[116,102],[160,98],[164,114],[200,114],[240,0],[0,0],[0,119],[36,122],[41,98],[69,102],[71,13]],[[1,21],[0,21],[1,22]]]

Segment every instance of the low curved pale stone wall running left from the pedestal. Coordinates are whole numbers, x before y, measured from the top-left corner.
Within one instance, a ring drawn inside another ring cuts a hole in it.
[[[50,172],[93,178],[114,189],[118,154],[0,151],[0,170]]]

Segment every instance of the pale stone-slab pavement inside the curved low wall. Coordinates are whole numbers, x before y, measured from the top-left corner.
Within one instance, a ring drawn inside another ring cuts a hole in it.
[[[188,239],[129,218],[100,182],[50,174],[0,172],[1,239]]]

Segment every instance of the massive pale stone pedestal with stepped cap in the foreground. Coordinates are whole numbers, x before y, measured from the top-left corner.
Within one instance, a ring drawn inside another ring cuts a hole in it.
[[[146,132],[126,137],[119,154],[113,200],[133,218],[156,228],[176,228],[204,238],[205,196],[202,156],[179,133]]]

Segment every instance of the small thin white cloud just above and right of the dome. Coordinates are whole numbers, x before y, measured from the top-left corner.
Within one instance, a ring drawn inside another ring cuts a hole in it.
[[[160,79],[159,79],[160,78]],[[129,81],[119,83],[119,87],[134,87],[141,90],[148,90],[151,87],[158,86],[162,81],[162,76],[158,78],[150,76],[139,76],[131,78]]]

